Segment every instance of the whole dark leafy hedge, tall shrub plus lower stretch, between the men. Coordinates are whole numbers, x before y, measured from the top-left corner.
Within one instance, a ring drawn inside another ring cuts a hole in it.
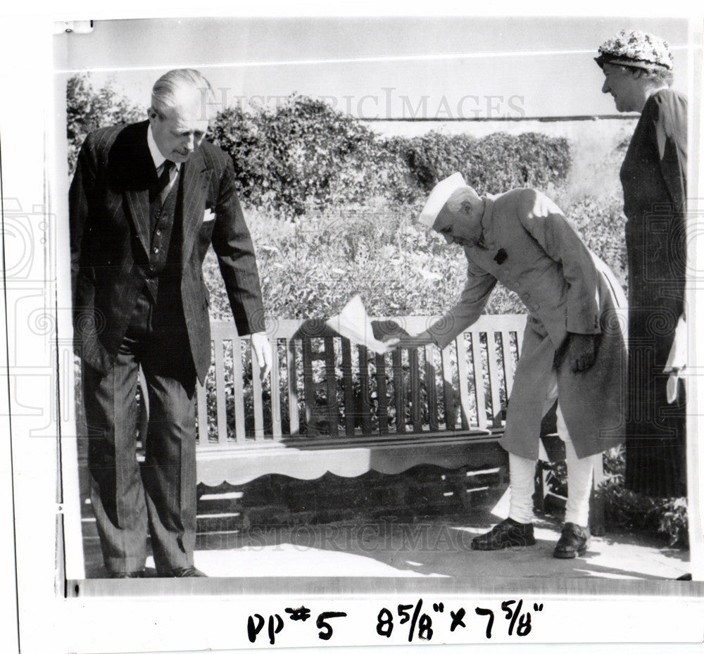
[[[570,168],[566,139],[439,132],[383,138],[327,103],[298,95],[253,113],[227,108],[211,131],[213,143],[232,156],[242,199],[282,218],[375,200],[415,203],[455,170],[479,192],[496,193],[547,189]]]

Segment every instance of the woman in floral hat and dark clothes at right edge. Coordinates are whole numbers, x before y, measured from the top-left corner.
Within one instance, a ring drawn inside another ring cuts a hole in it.
[[[665,41],[616,34],[596,63],[618,111],[641,118],[621,166],[629,293],[626,487],[686,495],[684,284],[687,101]]]

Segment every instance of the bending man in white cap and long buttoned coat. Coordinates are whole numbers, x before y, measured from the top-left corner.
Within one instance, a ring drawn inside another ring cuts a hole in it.
[[[541,420],[557,400],[567,457],[567,510],[554,555],[574,558],[589,542],[593,457],[624,437],[624,337],[615,307],[624,296],[555,203],[532,189],[480,197],[460,173],[439,182],[420,222],[459,244],[467,282],[458,304],[401,346],[450,344],[481,315],[496,282],[529,315],[501,444],[509,453],[510,512],[472,541],[477,550],[535,543],[535,464]]]

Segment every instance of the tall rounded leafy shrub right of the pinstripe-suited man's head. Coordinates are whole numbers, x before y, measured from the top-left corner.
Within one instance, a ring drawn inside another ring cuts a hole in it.
[[[283,218],[310,206],[368,201],[391,183],[386,163],[393,155],[374,132],[320,100],[294,95],[254,113],[227,108],[211,132],[232,156],[242,199]]]

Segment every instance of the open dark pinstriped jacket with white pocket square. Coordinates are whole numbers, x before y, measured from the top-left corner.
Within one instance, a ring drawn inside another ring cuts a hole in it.
[[[148,121],[105,127],[86,138],[69,194],[75,346],[106,372],[125,337],[149,261],[149,187],[156,180]],[[206,213],[215,219],[203,221]],[[182,164],[181,296],[196,373],[210,365],[209,294],[202,264],[212,242],[242,336],[265,329],[249,229],[235,194],[232,159],[203,142]]]

